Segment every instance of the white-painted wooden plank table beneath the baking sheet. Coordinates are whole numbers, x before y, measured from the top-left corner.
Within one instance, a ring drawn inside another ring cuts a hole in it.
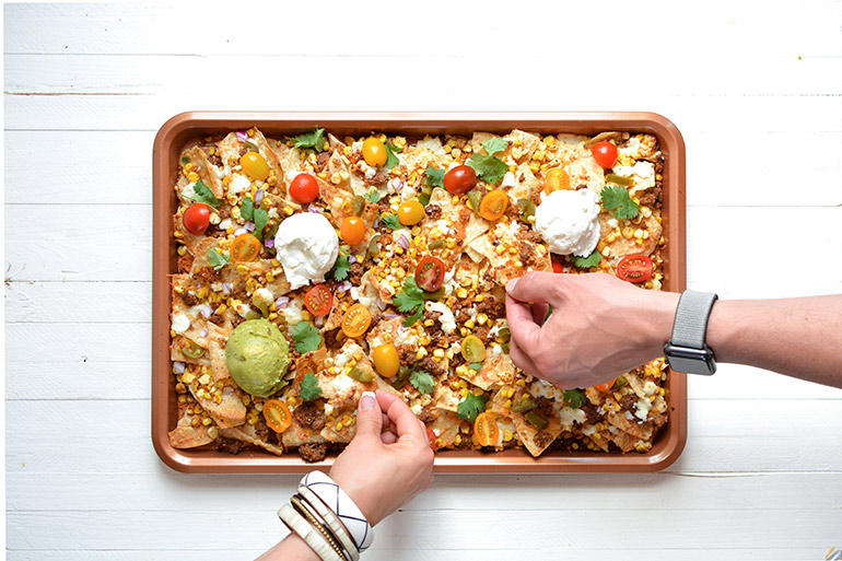
[[[9,559],[245,560],[284,535],[297,476],[152,449],[152,140],[183,110],[654,110],[687,141],[691,288],[841,292],[842,3],[681,4],[5,5]],[[842,391],[726,365],[690,381],[665,472],[441,476],[364,559],[832,547]]]

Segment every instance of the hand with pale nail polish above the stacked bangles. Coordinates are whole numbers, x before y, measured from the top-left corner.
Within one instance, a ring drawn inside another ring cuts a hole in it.
[[[330,477],[374,526],[430,486],[433,457],[424,424],[400,397],[366,391],[356,409],[356,435]]]

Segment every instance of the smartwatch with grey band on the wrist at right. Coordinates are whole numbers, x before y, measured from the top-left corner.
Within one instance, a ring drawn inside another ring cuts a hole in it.
[[[716,294],[686,290],[678,301],[673,337],[664,346],[669,367],[676,372],[711,375],[716,372],[713,349],[705,343],[707,318]]]

